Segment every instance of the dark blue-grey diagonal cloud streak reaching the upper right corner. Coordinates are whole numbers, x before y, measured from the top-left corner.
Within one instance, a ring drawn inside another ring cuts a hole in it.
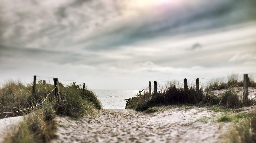
[[[138,42],[148,41],[159,36],[172,37],[256,20],[255,4],[256,1],[211,2],[201,5],[202,7],[191,8],[179,14],[175,13],[177,15],[170,15],[169,13],[172,11],[167,11],[166,16],[160,21],[143,23],[135,28],[133,25],[133,29],[121,27],[112,33],[99,35],[94,39],[97,42],[92,42],[93,44],[85,49],[112,50],[120,46],[135,45]],[[87,39],[80,43],[92,40]]]

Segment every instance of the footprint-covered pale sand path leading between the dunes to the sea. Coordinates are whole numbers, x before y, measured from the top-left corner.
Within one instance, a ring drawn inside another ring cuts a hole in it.
[[[194,110],[194,111],[193,111]],[[190,123],[209,116],[201,109],[169,110],[153,116],[130,109],[101,110],[95,118],[57,117],[59,130],[53,142],[218,142],[216,123]],[[205,114],[205,115],[204,115]],[[212,113],[215,114],[215,113]]]

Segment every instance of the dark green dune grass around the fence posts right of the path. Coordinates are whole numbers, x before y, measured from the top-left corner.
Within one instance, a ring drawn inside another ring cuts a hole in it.
[[[255,85],[256,82],[253,79],[249,79],[249,87],[255,87]],[[172,82],[167,86],[165,85],[165,88],[158,91],[156,95],[149,95],[146,92],[145,99],[143,99],[143,96],[138,95],[137,97],[126,99],[126,108],[144,111],[159,104],[172,105],[178,103],[200,106],[220,105],[225,108],[236,109],[255,103],[255,99],[250,99],[248,103],[244,104],[238,93],[232,89],[238,86],[243,86],[243,81],[239,80],[237,74],[232,74],[226,79],[211,80],[205,88],[200,88],[198,92],[193,84],[186,91],[181,85]],[[225,91],[216,95],[214,90],[219,89],[225,89]]]

